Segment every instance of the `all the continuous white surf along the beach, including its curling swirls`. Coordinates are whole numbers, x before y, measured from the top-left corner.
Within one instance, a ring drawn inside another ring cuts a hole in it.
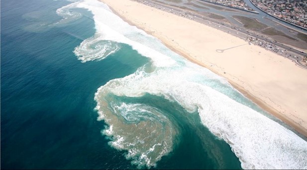
[[[178,103],[187,113],[198,113],[203,125],[224,140],[243,169],[307,169],[307,142],[264,113],[222,77],[165,47],[160,40],[131,26],[98,0],[73,2],[57,10],[78,19],[72,8],[85,8],[94,15],[96,33],[74,53],[81,62],[102,60],[122,44],[131,46],[150,62],[123,78],[101,86],[96,94],[98,120],[109,145],[127,152],[127,159],[142,168],[156,166],[176,145],[178,124],[163,111],[127,99],[146,95]]]

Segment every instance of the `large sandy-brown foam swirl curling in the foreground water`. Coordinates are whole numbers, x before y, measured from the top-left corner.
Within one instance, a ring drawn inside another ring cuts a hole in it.
[[[102,133],[111,138],[110,146],[127,151],[132,164],[150,168],[172,151],[176,130],[162,111],[144,104],[112,103],[108,108],[101,110],[110,124]]]

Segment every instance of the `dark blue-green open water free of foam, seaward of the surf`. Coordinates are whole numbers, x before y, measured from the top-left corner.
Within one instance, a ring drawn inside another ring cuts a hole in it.
[[[1,168],[134,169],[122,155],[124,151],[111,148],[109,139],[101,134],[104,123],[96,120],[94,95],[107,81],[133,73],[148,60],[124,44],[104,60],[77,60],[74,48],[95,33],[92,14],[84,9],[76,9],[83,14],[80,19],[60,27],[32,27],[61,19],[55,10],[68,3],[1,2]],[[176,106],[164,103],[159,107],[169,113]],[[176,119],[181,123],[181,117]],[[198,128],[205,128],[196,114],[194,119]],[[201,141],[188,123],[180,125],[185,129],[178,137],[178,149],[157,169],[218,167],[200,160],[199,156],[207,157],[207,153],[198,151]],[[186,137],[189,140],[180,142]],[[240,167],[230,147],[224,142],[221,145],[236,161],[234,167]],[[194,161],[178,164],[187,157]]]

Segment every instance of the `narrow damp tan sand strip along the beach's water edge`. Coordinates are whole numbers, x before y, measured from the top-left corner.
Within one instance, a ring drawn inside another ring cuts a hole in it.
[[[252,92],[250,92],[248,89],[246,89],[246,87],[238,84],[237,82],[233,81],[230,77],[225,76],[225,72],[224,74],[223,71],[220,71],[218,69],[216,69],[215,64],[213,64],[210,66],[210,62],[202,62],[200,61],[198,58],[192,57],[191,55],[193,55],[192,53],[189,53],[187,51],[184,51],[183,49],[180,49],[176,46],[174,46],[174,44],[172,44],[172,42],[170,42],[171,40],[168,37],[163,37],[161,35],[159,35],[159,33],[157,33],[157,31],[152,31],[149,30],[145,24],[140,24],[140,23],[136,23],[137,21],[131,21],[128,18],[126,18],[126,16],[124,16],[123,14],[121,14],[120,12],[116,11],[112,6],[109,5],[109,3],[105,2],[107,0],[100,0],[104,3],[106,3],[109,8],[118,16],[120,16],[125,22],[129,23],[130,25],[136,26],[137,28],[145,31],[147,34],[152,35],[156,38],[158,38],[166,47],[168,47],[169,49],[171,49],[172,51],[178,53],[179,55],[181,55],[182,57],[185,57],[186,59],[190,60],[193,63],[196,63],[198,65],[201,65],[207,69],[209,69],[210,71],[214,72],[215,74],[225,78],[236,90],[238,90],[242,95],[244,95],[246,98],[250,99],[252,102],[254,102],[255,104],[257,104],[260,108],[262,108],[263,110],[265,110],[266,112],[272,114],[273,116],[281,119],[283,122],[285,122],[287,125],[291,126],[292,128],[294,128],[297,132],[301,133],[302,135],[304,135],[305,137],[307,137],[307,128],[304,128],[302,125],[298,124],[296,121],[292,120],[291,118],[287,117],[287,115],[281,113],[281,111],[276,110],[273,106],[271,106],[270,104],[266,103],[264,100],[262,100],[261,98],[255,96],[255,94],[253,94]],[[131,0],[129,0],[131,1]],[[138,3],[136,1],[132,1],[135,3]],[[153,7],[150,7],[153,8]],[[122,11],[123,12],[123,11]],[[164,11],[163,11],[164,12]],[[169,14],[171,15],[171,14]],[[194,22],[194,21],[193,21]],[[196,21],[195,21],[196,22]],[[203,24],[204,25],[204,24]],[[212,29],[215,29],[213,27],[211,27]],[[221,30],[218,30],[220,32],[223,32]],[[231,35],[230,35],[231,36]],[[169,40],[167,40],[166,38],[168,38]],[[236,37],[237,38],[237,37]],[[175,43],[175,42],[174,42]],[[281,57],[281,56],[279,56]],[[218,67],[218,66],[217,66]],[[214,69],[215,68],[215,69]],[[227,75],[227,74],[226,74]],[[244,83],[244,82],[243,82]]]

